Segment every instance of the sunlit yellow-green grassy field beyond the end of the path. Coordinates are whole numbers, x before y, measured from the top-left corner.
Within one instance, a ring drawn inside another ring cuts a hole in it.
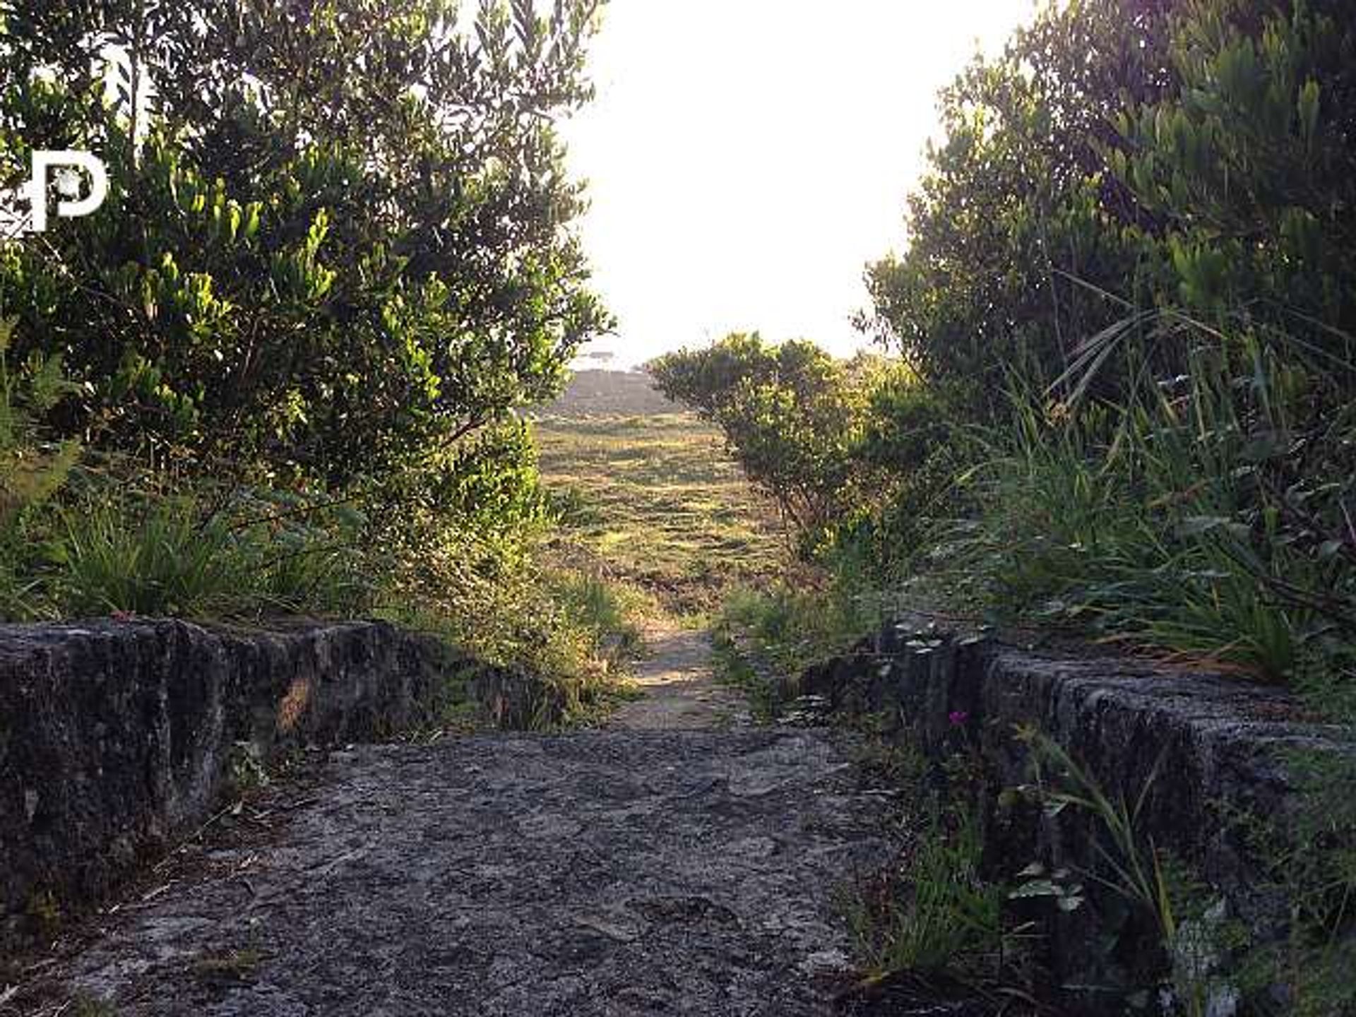
[[[776,515],[690,414],[544,415],[541,475],[561,514],[552,553],[648,593],[670,614],[776,574]]]

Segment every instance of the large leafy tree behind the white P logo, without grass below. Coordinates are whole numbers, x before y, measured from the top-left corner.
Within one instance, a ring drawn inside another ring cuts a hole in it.
[[[597,7],[0,5],[0,175],[85,148],[113,183],[0,251],[19,353],[81,386],[52,422],[343,487],[556,392],[606,327],[555,129]]]

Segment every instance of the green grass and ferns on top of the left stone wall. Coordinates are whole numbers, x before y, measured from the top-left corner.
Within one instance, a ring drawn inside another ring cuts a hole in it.
[[[0,617],[240,617],[367,601],[363,519],[342,504],[239,487],[209,503],[122,457],[45,442],[37,415],[73,386],[60,358],[37,351],[11,370],[11,336],[0,323]]]

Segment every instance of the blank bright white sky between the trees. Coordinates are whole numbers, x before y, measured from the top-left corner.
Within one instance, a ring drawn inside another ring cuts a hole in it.
[[[862,268],[903,244],[936,94],[1033,0],[612,0],[565,125],[610,366],[736,330],[864,344]]]

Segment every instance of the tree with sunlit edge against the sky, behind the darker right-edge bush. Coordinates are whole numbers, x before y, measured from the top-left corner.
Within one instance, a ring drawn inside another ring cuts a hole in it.
[[[909,245],[868,268],[860,324],[971,415],[1006,412],[1016,369],[1062,374],[1123,316],[1105,294],[1157,270],[1157,222],[1104,170],[1123,102],[1170,87],[1170,7],[1052,5],[941,95]]]

